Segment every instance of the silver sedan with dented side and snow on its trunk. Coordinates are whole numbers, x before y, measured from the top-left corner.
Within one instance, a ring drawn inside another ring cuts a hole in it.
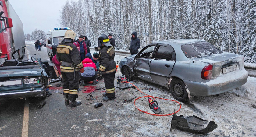
[[[148,44],[119,64],[127,79],[165,86],[172,96],[185,101],[191,96],[210,96],[247,82],[243,56],[219,50],[203,40],[176,39]]]

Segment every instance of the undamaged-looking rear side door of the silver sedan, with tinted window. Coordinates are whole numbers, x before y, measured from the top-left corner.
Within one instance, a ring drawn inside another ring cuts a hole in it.
[[[166,85],[167,77],[172,72],[175,60],[176,55],[172,46],[160,44],[150,63],[150,76],[152,81]]]

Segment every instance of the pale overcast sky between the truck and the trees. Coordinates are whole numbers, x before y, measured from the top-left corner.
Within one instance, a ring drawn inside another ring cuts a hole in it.
[[[36,28],[48,32],[59,24],[59,10],[67,0],[9,0],[20,17],[24,33]]]

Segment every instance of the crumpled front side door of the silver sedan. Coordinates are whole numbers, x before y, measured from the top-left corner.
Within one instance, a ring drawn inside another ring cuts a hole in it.
[[[135,57],[134,70],[139,78],[151,81],[150,77],[150,62],[154,55],[156,44],[150,44],[142,49]]]

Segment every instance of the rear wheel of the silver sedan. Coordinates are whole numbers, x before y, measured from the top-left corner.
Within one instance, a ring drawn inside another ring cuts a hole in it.
[[[186,101],[188,99],[185,83],[180,79],[173,79],[170,83],[170,91],[172,96],[178,101]]]

